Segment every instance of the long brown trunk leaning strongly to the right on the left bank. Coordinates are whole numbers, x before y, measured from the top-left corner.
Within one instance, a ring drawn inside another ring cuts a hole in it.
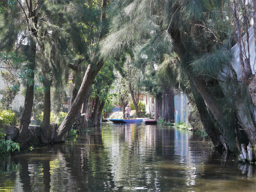
[[[102,0],[101,16],[100,16],[101,23],[105,20],[105,17],[106,17],[105,11],[103,10],[106,7],[106,5],[107,5],[107,0]],[[98,39],[100,39],[102,36],[103,36],[103,33],[100,31]],[[94,78],[96,77],[96,75],[98,74],[99,70],[102,68],[103,65],[104,65],[103,59],[99,60],[96,66],[92,64],[88,65],[82,84],[77,93],[77,96],[75,97],[67,116],[64,118],[60,127],[56,131],[55,138],[54,138],[55,142],[64,141],[65,133],[68,132],[68,130],[71,128],[73,121],[77,116],[78,111],[81,110],[81,106],[85,100],[86,93],[90,90]]]

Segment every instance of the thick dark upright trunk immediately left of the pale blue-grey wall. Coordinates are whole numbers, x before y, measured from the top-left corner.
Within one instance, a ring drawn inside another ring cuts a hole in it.
[[[171,87],[166,88],[166,101],[165,101],[165,112],[163,122],[173,123],[175,122],[174,117],[174,92]]]

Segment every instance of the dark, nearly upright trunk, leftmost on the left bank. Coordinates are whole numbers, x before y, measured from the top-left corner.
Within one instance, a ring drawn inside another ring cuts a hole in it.
[[[24,147],[27,144],[28,141],[28,127],[31,122],[31,114],[32,114],[32,108],[33,108],[33,101],[34,101],[34,77],[35,77],[35,65],[36,65],[36,52],[37,52],[37,46],[35,43],[31,43],[30,46],[31,49],[31,58],[29,69],[31,70],[31,73],[28,74],[29,80],[27,80],[26,83],[26,95],[25,95],[25,101],[24,101],[24,108],[22,111],[22,115],[20,118],[19,123],[19,136],[17,139],[17,143],[20,144],[21,147]]]

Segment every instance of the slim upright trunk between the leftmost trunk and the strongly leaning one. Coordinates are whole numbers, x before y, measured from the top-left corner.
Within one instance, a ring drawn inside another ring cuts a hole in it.
[[[48,143],[51,139],[50,130],[50,84],[45,85],[44,90],[44,116],[42,124],[42,142]]]

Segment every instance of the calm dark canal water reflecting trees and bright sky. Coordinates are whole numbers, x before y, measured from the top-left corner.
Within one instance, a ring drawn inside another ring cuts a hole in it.
[[[64,144],[0,160],[0,191],[254,192],[254,165],[166,126],[105,123]]]

